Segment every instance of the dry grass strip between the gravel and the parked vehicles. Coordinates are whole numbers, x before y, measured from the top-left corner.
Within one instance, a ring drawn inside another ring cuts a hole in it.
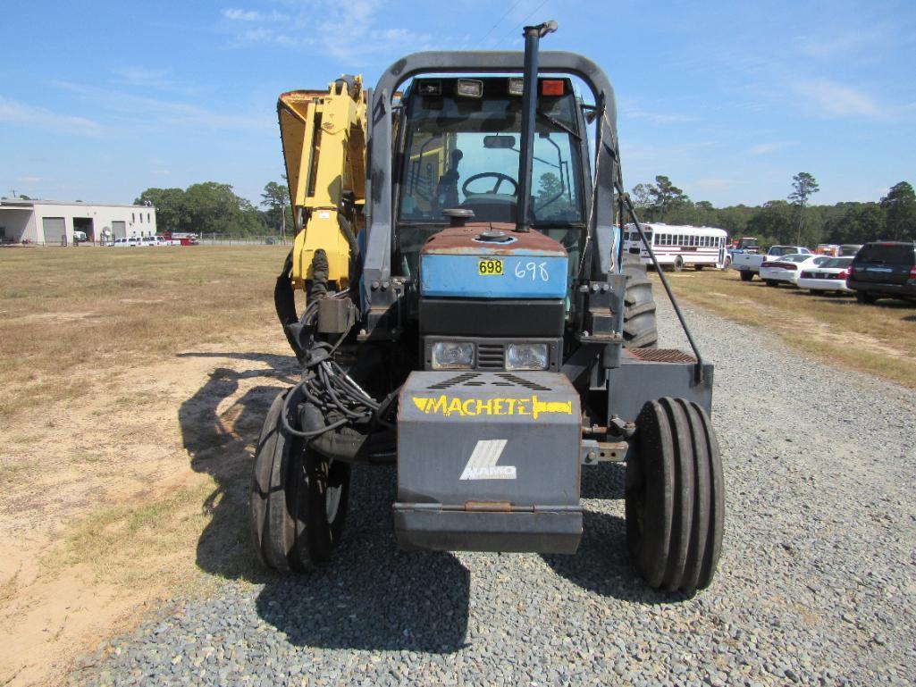
[[[852,296],[741,281],[735,270],[666,272],[679,298],[718,315],[779,334],[819,360],[916,388],[916,305],[880,300],[859,305]],[[656,280],[656,298],[664,297]]]

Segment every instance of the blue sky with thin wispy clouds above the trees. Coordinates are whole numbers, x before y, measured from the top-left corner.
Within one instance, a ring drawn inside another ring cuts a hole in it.
[[[278,93],[374,84],[416,49],[582,52],[615,86],[627,188],[694,201],[875,201],[916,184],[916,3],[228,0],[30,2],[3,13],[0,195],[132,202],[280,180]]]

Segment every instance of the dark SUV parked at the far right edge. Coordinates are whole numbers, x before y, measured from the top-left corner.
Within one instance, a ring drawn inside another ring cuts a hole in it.
[[[916,243],[877,241],[856,253],[846,286],[860,303],[878,299],[916,299]]]

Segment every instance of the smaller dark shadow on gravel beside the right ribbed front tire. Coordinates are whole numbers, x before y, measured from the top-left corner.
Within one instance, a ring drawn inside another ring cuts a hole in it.
[[[583,499],[624,498],[624,463],[602,463],[583,468]],[[583,537],[573,555],[541,556],[554,573],[585,590],[621,601],[644,605],[677,603],[690,598],[651,589],[630,563],[627,523],[620,516],[588,509],[584,504]]]

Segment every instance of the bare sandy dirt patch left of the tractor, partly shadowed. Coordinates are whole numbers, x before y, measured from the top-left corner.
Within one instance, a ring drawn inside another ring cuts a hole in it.
[[[277,333],[257,333],[121,370],[0,428],[0,684],[58,682],[177,589],[245,576],[239,494],[294,366]]]

